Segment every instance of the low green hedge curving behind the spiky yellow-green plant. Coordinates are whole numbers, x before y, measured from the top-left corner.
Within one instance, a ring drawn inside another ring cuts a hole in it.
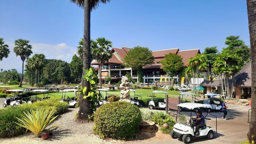
[[[15,122],[18,122],[17,118],[21,118],[21,114],[29,111],[30,109],[35,110],[43,108],[49,108],[50,111],[54,110],[54,115],[56,116],[67,112],[69,107],[67,103],[61,103],[54,99],[47,99],[33,104],[21,104],[15,107],[0,109],[0,138],[8,138],[24,134],[25,129],[15,124]]]

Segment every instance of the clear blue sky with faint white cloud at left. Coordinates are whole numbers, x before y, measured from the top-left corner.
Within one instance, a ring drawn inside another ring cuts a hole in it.
[[[0,68],[16,68],[14,40],[30,40],[33,52],[71,61],[83,37],[83,10],[70,0],[1,0],[0,37],[11,49]],[[113,47],[151,50],[225,47],[225,38],[249,41],[246,0],[111,0],[91,13],[91,38],[106,37]]]

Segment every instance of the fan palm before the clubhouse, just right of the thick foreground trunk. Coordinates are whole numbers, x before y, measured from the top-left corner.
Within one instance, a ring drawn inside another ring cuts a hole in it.
[[[99,63],[99,85],[102,86],[102,66],[105,61],[112,57],[112,52],[109,50],[109,48],[112,47],[112,42],[110,40],[107,40],[105,37],[99,37],[96,39],[96,41],[92,41],[91,45],[93,59],[97,60],[97,62]]]

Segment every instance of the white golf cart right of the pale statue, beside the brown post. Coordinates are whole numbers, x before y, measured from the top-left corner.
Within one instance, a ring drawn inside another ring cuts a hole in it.
[[[162,93],[162,94],[165,94],[165,97],[167,97],[168,93],[167,92],[163,92],[163,91],[153,91],[153,94],[152,94],[152,98],[151,98],[151,101],[149,101],[148,103],[148,108],[149,109],[157,109],[157,108],[161,108],[161,109],[165,109],[166,108],[166,99],[163,100],[163,102],[160,102],[158,99],[156,101],[154,101],[154,97],[155,96],[155,93]]]

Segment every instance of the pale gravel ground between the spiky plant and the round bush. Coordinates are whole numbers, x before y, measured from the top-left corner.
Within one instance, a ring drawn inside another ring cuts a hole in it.
[[[52,136],[47,140],[35,137],[32,132],[25,135],[19,135],[15,138],[0,138],[0,143],[4,144],[113,144],[121,143],[116,140],[102,140],[99,136],[93,134],[93,123],[78,124],[74,121],[75,115],[79,109],[69,109],[63,115],[52,122],[58,125],[52,131]]]

